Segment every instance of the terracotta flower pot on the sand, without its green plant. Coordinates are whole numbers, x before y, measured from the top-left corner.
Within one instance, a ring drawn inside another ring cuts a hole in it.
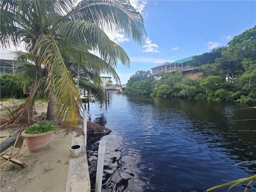
[[[23,131],[21,135],[26,138],[28,149],[32,153],[36,153],[39,150],[45,149],[49,145],[53,133],[54,131],[39,134],[27,134]]]

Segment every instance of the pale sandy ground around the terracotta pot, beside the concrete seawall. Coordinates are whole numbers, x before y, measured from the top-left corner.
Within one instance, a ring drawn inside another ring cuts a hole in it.
[[[47,103],[36,102],[35,109],[36,117],[45,116]],[[1,129],[1,141],[14,132],[15,129]],[[64,130],[57,131],[49,147],[35,154],[30,153],[24,140],[20,159],[27,166],[22,168],[10,162],[1,181],[0,191],[65,191],[71,143],[71,134],[65,133]],[[4,165],[1,165],[1,173]]]

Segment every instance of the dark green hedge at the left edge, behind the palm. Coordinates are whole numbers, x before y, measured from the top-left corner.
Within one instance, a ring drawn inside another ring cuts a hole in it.
[[[21,88],[21,80],[18,75],[3,74],[0,75],[1,82],[1,98],[22,98],[23,92]]]

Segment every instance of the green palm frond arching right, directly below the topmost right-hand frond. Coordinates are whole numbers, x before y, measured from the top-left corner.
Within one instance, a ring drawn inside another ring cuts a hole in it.
[[[129,66],[130,59],[121,46],[111,41],[105,32],[93,22],[75,20],[61,23],[56,29],[65,45],[76,45],[100,53],[101,58],[112,65],[118,60]]]

